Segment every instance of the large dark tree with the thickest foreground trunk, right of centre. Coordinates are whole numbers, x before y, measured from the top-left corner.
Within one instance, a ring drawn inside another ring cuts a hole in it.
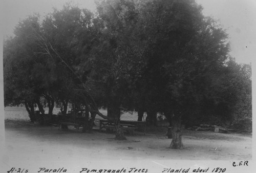
[[[200,110],[214,74],[223,68],[227,35],[195,1],[141,2],[139,11],[145,89],[151,107],[172,119],[170,147],[182,148],[181,121]]]

